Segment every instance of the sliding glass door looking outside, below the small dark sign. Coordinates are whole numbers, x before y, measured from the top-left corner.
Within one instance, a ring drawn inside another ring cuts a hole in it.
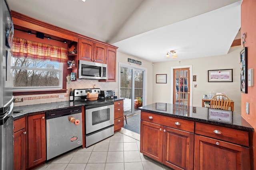
[[[146,70],[126,64],[120,64],[119,70],[119,96],[124,98],[124,115],[134,115],[144,104]]]

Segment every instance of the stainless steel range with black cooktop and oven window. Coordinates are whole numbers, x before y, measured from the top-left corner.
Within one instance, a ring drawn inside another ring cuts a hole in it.
[[[85,142],[89,147],[114,135],[114,100],[99,97],[88,101],[87,92],[101,95],[99,88],[74,89],[74,100],[85,104]]]

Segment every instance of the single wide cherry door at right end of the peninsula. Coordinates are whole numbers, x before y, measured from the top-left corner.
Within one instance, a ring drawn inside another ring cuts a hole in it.
[[[250,170],[249,148],[195,135],[195,170]]]

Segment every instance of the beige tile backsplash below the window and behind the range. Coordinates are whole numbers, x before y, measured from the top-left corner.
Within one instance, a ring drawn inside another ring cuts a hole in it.
[[[32,104],[43,104],[43,103],[53,103],[53,102],[63,102],[69,100],[70,88],[72,89],[83,89],[83,88],[100,88],[101,90],[115,90],[117,88],[117,83],[110,82],[98,82],[98,80],[77,80],[67,82],[67,92],[66,94],[36,94],[36,95],[22,95],[14,96],[14,98],[23,98],[23,102],[15,102],[14,106],[25,106]],[[111,85],[112,87],[110,87]],[[113,86],[114,85],[114,86]],[[59,98],[59,95],[64,95],[64,98]]]

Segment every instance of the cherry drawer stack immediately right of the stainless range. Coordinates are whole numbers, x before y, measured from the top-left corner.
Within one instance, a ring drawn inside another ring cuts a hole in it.
[[[124,127],[124,101],[114,102],[114,131]]]

